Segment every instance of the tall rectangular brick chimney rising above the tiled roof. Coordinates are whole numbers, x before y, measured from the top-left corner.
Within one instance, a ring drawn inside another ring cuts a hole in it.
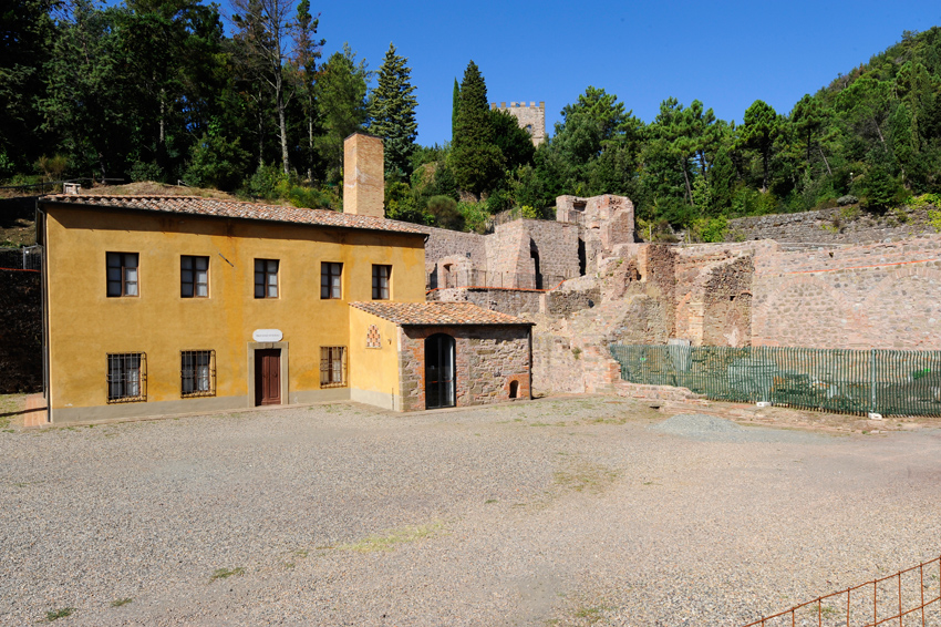
[[[353,133],[343,140],[343,213],[385,217],[382,140]]]

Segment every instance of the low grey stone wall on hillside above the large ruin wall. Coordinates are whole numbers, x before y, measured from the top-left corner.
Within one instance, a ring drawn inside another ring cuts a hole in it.
[[[780,243],[861,244],[907,239],[935,233],[928,209],[889,212],[879,216],[859,209],[833,208],[799,214],[752,216],[728,220],[726,241],[774,239]]]

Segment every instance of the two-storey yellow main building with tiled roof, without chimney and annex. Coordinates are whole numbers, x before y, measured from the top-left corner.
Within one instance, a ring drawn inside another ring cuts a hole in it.
[[[349,302],[425,296],[424,234],[372,216],[107,196],[40,216],[52,422],[355,398]]]

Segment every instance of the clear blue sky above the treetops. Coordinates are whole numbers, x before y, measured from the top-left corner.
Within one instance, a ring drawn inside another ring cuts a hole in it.
[[[451,138],[451,102],[468,60],[492,102],[545,101],[551,133],[588,85],[650,122],[661,101],[694,99],[723,120],[755,100],[789,112],[838,73],[941,25],[938,0],[477,1],[318,3],[324,56],[349,41],[378,70],[389,43],[409,58],[418,142]]]

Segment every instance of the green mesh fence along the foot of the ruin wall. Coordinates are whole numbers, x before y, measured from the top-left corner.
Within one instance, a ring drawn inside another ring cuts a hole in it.
[[[941,415],[941,351],[611,345],[621,378],[717,401]]]

